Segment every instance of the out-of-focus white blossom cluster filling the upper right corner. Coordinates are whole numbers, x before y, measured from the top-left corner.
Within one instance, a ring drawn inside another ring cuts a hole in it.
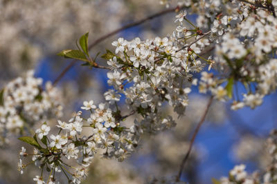
[[[202,73],[199,91],[211,92],[221,101],[233,98],[233,110],[256,108],[276,89],[276,1],[184,1],[182,5],[188,13],[198,14],[196,26],[187,21],[196,34],[211,33],[209,40],[197,40],[188,47],[192,56],[206,60],[208,69],[218,73]],[[185,15],[184,11],[177,16],[181,23],[177,31],[188,37],[191,32],[182,25]],[[197,56],[197,43],[207,46],[209,42],[206,50],[213,45],[215,52],[208,59]],[[238,91],[240,84],[246,92]]]

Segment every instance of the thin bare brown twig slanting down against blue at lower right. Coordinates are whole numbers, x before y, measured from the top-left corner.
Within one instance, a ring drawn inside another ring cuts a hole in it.
[[[176,178],[176,181],[180,181],[181,174],[183,172],[184,166],[185,166],[186,161],[188,160],[188,156],[190,156],[190,152],[193,148],[193,143],[195,141],[195,137],[197,136],[197,133],[199,132],[199,129],[200,129],[201,125],[204,123],[204,121],[206,119],[206,116],[208,114],[208,109],[211,107],[212,102],[213,102],[213,96],[211,96],[211,98],[209,99],[208,104],[206,106],[206,109],[204,111],[204,114],[202,115],[202,118],[200,119],[200,121],[199,121],[199,123],[198,123],[198,125],[195,129],[195,132],[193,133],[193,137],[190,140],[190,146],[188,147],[188,152],[186,152],[186,156],[184,157],[183,161],[181,162],[179,173],[178,173],[178,176]]]

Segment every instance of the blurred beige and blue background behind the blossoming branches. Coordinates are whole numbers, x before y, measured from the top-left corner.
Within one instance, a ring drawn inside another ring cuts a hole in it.
[[[172,2],[172,7],[176,5]],[[82,34],[89,32],[91,43],[165,8],[158,0],[0,0],[0,88],[28,70],[35,70],[35,76],[44,82],[53,82],[71,62],[57,57],[57,52],[75,48],[75,40]],[[195,15],[189,18],[195,21]],[[105,49],[114,50],[111,42],[118,37],[128,40],[166,37],[177,26],[174,20],[175,13],[171,13],[129,28],[96,45],[90,53],[95,56],[98,52],[104,54]],[[106,61],[97,62],[105,65]],[[76,63],[57,84],[64,99],[62,121],[68,121],[73,111],[80,110],[84,100],[103,101],[102,94],[109,89],[106,71],[90,70],[80,64]],[[145,135],[137,152],[123,163],[96,158],[84,183],[150,183],[154,178],[175,176],[208,103],[208,96],[199,94],[197,88],[189,96],[186,116],[179,119],[175,116],[177,127]],[[238,163],[246,164],[247,172],[265,168],[269,162],[265,139],[276,127],[275,101],[276,95],[272,94],[256,110],[243,108],[237,112],[229,110],[229,103],[214,101],[197,135],[183,180],[211,183],[211,178],[227,176]],[[168,107],[165,111],[173,114]],[[28,167],[24,175],[17,172],[15,158],[21,146],[14,138],[0,148],[0,183],[30,183],[37,174],[35,167]]]

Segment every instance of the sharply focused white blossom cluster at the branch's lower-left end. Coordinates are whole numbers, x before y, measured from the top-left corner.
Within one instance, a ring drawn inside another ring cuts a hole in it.
[[[100,103],[96,107],[93,101],[84,101],[82,109],[89,112],[89,118],[84,118],[79,111],[67,123],[58,121],[57,128],[60,131],[57,134],[48,136],[51,128],[46,123],[35,131],[32,139],[35,141],[34,153],[27,154],[24,147],[19,153],[21,159],[18,168],[21,174],[26,167],[22,159],[32,155],[31,162],[35,162],[39,169],[43,171],[44,168],[50,168],[48,177],[45,178],[42,172],[42,175],[35,176],[34,181],[54,183],[57,180],[55,172],[62,171],[69,183],[80,183],[87,176],[87,167],[95,154],[123,161],[133,152],[143,130],[136,121],[131,127],[122,125],[122,121],[133,113],[121,116],[120,112],[109,108],[109,103]],[[86,133],[89,136],[84,136]],[[26,143],[30,143],[29,139],[21,138]],[[68,160],[75,160],[78,166],[72,166],[72,161]]]

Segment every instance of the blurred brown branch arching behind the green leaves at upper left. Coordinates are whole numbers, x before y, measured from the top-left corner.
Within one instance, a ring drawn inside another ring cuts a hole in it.
[[[98,43],[104,41],[105,39],[107,39],[107,38],[109,38],[111,36],[113,36],[114,34],[117,34],[118,32],[121,32],[123,30],[127,30],[128,28],[132,28],[132,27],[134,27],[136,25],[140,25],[140,24],[144,23],[145,21],[150,21],[150,20],[152,20],[152,19],[154,19],[156,17],[160,17],[163,14],[168,14],[170,12],[177,12],[177,11],[179,11],[182,8],[185,8],[185,6],[181,6],[181,7],[177,6],[176,8],[170,8],[170,9],[167,9],[167,10],[163,10],[161,12],[157,12],[156,14],[152,14],[149,17],[145,17],[144,19],[141,19],[139,21],[135,21],[133,23],[129,23],[129,24],[123,26],[122,28],[118,28],[117,30],[109,32],[108,34],[105,34],[102,37],[99,37],[98,39],[93,41],[93,43],[91,43],[89,45],[89,50],[91,50],[91,48],[96,46]],[[60,79],[62,79],[64,74],[66,74],[66,72],[68,72],[69,69],[71,69],[76,62],[77,62],[77,60],[71,61],[71,63],[69,63],[69,65],[66,68],[64,68],[64,70],[60,73],[60,75],[57,76],[57,79],[55,79],[55,81],[53,82],[53,85],[57,85],[57,83],[60,81]],[[98,67],[98,68],[100,68],[100,67]]]

